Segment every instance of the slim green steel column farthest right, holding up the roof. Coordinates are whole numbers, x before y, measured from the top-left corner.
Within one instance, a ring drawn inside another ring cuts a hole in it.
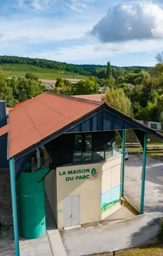
[[[141,214],[144,212],[144,190],[145,190],[145,179],[146,179],[146,132],[144,133],[144,150],[143,150],[143,173],[141,183]]]

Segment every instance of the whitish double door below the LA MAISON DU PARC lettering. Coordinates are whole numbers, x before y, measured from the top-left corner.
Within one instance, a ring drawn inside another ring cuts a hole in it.
[[[66,196],[63,202],[64,211],[64,227],[72,227],[80,224],[80,196]]]

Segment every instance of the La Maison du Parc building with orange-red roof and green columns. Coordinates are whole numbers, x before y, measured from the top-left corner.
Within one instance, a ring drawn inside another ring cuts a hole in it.
[[[127,129],[134,130],[144,150],[143,213],[146,134],[160,140],[163,135],[101,102],[100,97],[45,92],[11,109],[9,123],[1,125],[0,138],[8,136],[16,256],[15,182],[24,237],[36,238],[45,232],[44,184],[58,228],[103,220],[121,207]],[[122,155],[115,151],[115,131],[122,138]]]

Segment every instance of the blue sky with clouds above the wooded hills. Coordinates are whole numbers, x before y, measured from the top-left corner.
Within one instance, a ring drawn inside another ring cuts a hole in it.
[[[154,66],[163,1],[0,0],[0,55]]]

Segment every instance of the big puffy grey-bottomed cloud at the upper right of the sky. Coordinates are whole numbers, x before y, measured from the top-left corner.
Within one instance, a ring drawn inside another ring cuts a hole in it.
[[[151,2],[115,6],[90,34],[104,43],[163,38],[163,9]]]

